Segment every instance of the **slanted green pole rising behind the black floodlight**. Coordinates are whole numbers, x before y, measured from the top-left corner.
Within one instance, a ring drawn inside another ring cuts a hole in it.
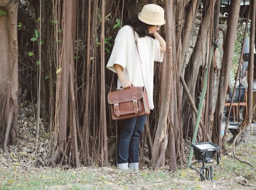
[[[213,51],[214,51],[214,45],[211,46],[211,56],[210,56],[210,60],[209,60],[209,64],[208,67],[210,67],[211,64],[211,60],[213,59]],[[201,120],[201,115],[202,115],[202,110],[203,110],[203,103],[204,103],[204,97],[205,97],[205,93],[207,90],[207,81],[208,81],[208,67],[205,71],[205,79],[204,79],[204,84],[203,84],[203,90],[202,90],[202,96],[199,102],[199,107],[198,107],[198,112],[197,112],[197,116],[196,116],[196,124],[195,124],[195,131],[193,132],[193,137],[192,137],[192,143],[196,142],[196,136],[197,136],[197,131],[198,131],[198,126],[199,126],[199,122]],[[190,146],[190,153],[189,153],[189,160],[188,160],[188,167],[191,163],[191,159],[192,159],[192,155],[193,155],[193,148]]]

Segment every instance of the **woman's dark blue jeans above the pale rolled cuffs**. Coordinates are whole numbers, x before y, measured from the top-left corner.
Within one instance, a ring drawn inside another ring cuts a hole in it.
[[[140,135],[147,116],[121,120],[117,129],[117,163],[139,162]]]

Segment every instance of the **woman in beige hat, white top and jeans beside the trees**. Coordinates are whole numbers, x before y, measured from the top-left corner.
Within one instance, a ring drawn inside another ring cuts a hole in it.
[[[154,61],[163,61],[166,44],[158,34],[165,24],[164,9],[155,4],[142,8],[138,18],[128,21],[128,25],[118,31],[107,68],[118,75],[117,88],[146,86],[150,109],[153,104],[153,69]],[[134,33],[138,40],[139,60]],[[155,39],[149,37],[153,35]],[[141,66],[140,66],[141,64]],[[144,82],[142,79],[142,73]],[[147,116],[122,120],[118,123],[117,167],[120,169],[139,169],[140,135]]]

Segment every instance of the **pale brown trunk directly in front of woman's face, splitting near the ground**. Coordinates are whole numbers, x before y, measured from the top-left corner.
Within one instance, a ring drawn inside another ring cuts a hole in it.
[[[165,153],[166,146],[167,146],[167,126],[170,126],[170,134],[169,138],[171,139],[171,149],[169,150],[171,153],[170,155],[170,162],[173,165],[172,169],[176,170],[176,154],[175,154],[175,144],[174,144],[174,128],[173,128],[173,115],[170,116],[169,122],[168,121],[168,113],[169,113],[169,106],[170,106],[170,100],[171,97],[173,99],[173,61],[172,61],[172,35],[174,35],[174,27],[173,27],[173,15],[172,15],[172,0],[165,2],[166,6],[166,46],[167,46],[167,52],[166,52],[166,61],[163,62],[165,65],[165,71],[164,71],[164,81],[162,84],[165,84],[165,90],[161,93],[161,100],[160,100],[160,114],[158,118],[158,125],[157,130],[155,132],[154,137],[154,144],[153,144],[153,154],[151,159],[151,167],[156,170],[158,169],[160,163],[162,163],[163,154]],[[163,88],[162,88],[163,89]],[[170,142],[170,141],[169,141]],[[159,150],[161,152],[159,153]]]

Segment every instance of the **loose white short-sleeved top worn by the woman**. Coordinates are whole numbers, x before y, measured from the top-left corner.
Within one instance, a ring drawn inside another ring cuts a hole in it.
[[[139,37],[136,32],[135,35],[138,39],[138,47],[142,60],[141,68],[147,89],[149,107],[153,109],[154,61],[162,62],[164,53],[160,51],[160,43],[157,39],[152,39],[152,37],[148,36]],[[114,64],[123,67],[124,77],[131,81],[134,86],[144,86],[133,29],[129,26],[122,27],[116,36],[115,44],[107,64],[108,69],[116,72]],[[118,79],[117,88],[120,88],[120,86],[121,81]]]

